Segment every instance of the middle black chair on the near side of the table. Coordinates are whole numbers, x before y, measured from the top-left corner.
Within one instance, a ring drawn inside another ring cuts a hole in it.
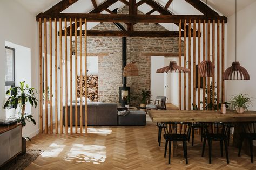
[[[230,123],[201,123],[203,126],[203,151],[202,157],[204,157],[204,150],[206,145],[206,140],[208,141],[209,147],[209,164],[212,162],[212,141],[220,141],[220,154],[223,157],[223,142],[225,146],[227,164],[230,162],[228,159],[228,148],[227,148],[227,133],[230,128]]]

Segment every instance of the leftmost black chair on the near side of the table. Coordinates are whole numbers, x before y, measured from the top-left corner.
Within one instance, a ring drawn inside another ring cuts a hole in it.
[[[178,126],[179,125],[179,126]],[[179,128],[179,130],[178,130]],[[184,122],[169,122],[166,123],[164,127],[164,139],[165,139],[165,151],[164,157],[166,157],[167,146],[169,147],[168,151],[168,164],[171,164],[171,144],[173,141],[182,141],[183,142],[183,154],[187,161],[187,140],[190,136],[191,123]]]

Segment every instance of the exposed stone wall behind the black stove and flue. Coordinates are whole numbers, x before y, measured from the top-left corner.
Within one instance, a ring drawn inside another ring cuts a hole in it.
[[[127,13],[127,10],[125,6],[118,13]],[[126,24],[122,24],[127,27]],[[113,23],[100,23],[92,30],[118,30],[118,28]],[[154,23],[137,23],[134,25],[134,30],[167,31],[163,26]],[[174,53],[178,51],[178,38],[174,38]],[[87,52],[109,53],[108,56],[98,57],[99,101],[118,103],[118,88],[122,86],[122,37],[87,37]],[[132,97],[137,95],[140,89],[150,90],[151,62],[150,56],[142,55],[145,52],[172,52],[172,38],[127,37],[127,63],[135,62],[139,69],[139,76],[127,77],[127,86],[130,87],[131,95],[130,105],[139,105],[139,102],[132,100]]]

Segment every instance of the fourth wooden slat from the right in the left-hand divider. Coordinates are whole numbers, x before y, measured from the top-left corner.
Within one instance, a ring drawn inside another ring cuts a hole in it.
[[[72,104],[73,104],[73,88],[72,88],[72,84],[73,84],[73,72],[72,72],[72,19],[69,19],[69,32],[70,32],[70,36],[69,36],[69,55],[70,55],[70,65],[69,65],[69,69],[70,69],[70,133],[73,133],[73,109],[72,109]],[[68,49],[67,49],[68,50]]]

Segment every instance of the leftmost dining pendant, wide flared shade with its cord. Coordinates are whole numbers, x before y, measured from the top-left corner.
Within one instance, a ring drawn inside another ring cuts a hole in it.
[[[174,25],[173,18],[174,18],[174,3],[172,1],[172,31],[173,31],[173,25]],[[164,72],[166,72],[166,73],[175,72],[176,73],[177,71],[178,71],[178,73],[190,72],[190,69],[177,65],[177,62],[173,61],[173,56],[174,56],[174,37],[172,37],[172,61],[170,61],[169,66],[157,69],[157,73],[164,73]]]

